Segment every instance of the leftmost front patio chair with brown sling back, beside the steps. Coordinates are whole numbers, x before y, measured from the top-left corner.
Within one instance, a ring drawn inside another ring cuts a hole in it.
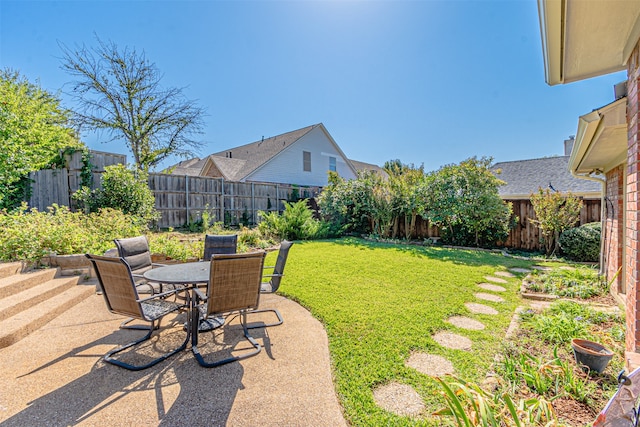
[[[109,351],[104,356],[105,362],[132,371],[139,371],[149,368],[186,348],[190,337],[190,327],[187,327],[187,336],[178,348],[164,353],[162,356],[153,359],[148,363],[133,365],[113,358],[114,355],[121,351],[134,347],[151,338],[153,331],[155,329],[159,329],[160,321],[164,316],[169,313],[188,308],[190,300],[188,295],[185,298],[187,303],[177,303],[166,299],[168,295],[181,292],[181,290],[173,290],[170,292],[155,294],[147,298],[140,298],[133,275],[131,274],[131,268],[124,258],[90,254],[86,254],[86,257],[89,258],[93,268],[95,269],[98,281],[102,286],[102,295],[109,311],[115,314],[128,316],[131,319],[149,322],[149,326],[145,328],[148,330],[148,333],[145,336],[118,347],[115,350]],[[190,319],[188,321],[190,322]]]

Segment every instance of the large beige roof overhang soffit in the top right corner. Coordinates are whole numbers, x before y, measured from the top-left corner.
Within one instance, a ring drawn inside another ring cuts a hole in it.
[[[538,0],[550,85],[623,70],[640,37],[638,0]]]

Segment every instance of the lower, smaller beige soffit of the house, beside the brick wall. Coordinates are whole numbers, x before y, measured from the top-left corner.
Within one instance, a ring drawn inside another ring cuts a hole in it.
[[[580,116],[569,169],[578,174],[607,172],[627,155],[627,98]]]

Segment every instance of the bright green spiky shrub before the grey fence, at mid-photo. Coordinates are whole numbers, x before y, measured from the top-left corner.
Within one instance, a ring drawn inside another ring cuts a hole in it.
[[[259,211],[262,218],[258,230],[262,235],[277,239],[309,240],[322,239],[329,234],[329,224],[313,218],[313,212],[306,200],[296,203],[284,202],[284,212],[265,213]]]

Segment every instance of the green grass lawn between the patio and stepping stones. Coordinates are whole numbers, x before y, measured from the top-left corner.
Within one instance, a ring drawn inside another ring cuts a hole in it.
[[[412,351],[444,356],[457,376],[482,381],[519,305],[521,277],[503,285],[507,292],[499,294],[505,299],[501,303],[477,299],[477,292],[491,293],[477,284],[496,271],[530,265],[492,252],[355,238],[297,242],[289,253],[280,291],[324,323],[336,389],[353,425],[442,425],[442,419],[415,420],[379,408],[373,389],[396,381],[421,395],[427,413],[444,406],[436,381],[405,366]],[[472,314],[466,302],[492,306],[499,314]],[[458,329],[445,321],[454,315],[480,320],[486,328]],[[473,349],[441,347],[432,339],[441,330],[470,338]]]

